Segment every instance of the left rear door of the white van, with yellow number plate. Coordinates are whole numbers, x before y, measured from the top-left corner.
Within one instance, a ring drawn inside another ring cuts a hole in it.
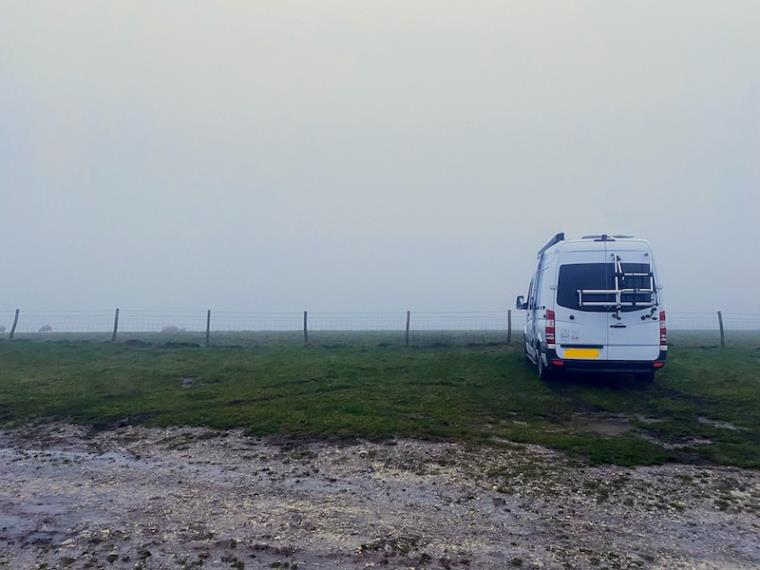
[[[605,307],[579,303],[579,290],[606,289],[609,269],[603,249],[563,251],[557,272],[555,326],[557,356],[563,359],[606,360]]]

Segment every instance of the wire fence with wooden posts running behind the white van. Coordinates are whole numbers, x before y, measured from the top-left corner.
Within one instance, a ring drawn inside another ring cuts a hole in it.
[[[492,344],[516,342],[525,320],[525,311],[514,309],[366,313],[23,309],[0,310],[0,338],[221,346]],[[721,342],[721,337],[727,343],[760,342],[760,313],[668,312],[667,326],[671,344],[711,344]]]

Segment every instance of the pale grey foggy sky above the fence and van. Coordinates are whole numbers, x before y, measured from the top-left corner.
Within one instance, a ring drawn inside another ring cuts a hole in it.
[[[1,308],[499,309],[552,234],[760,312],[760,3],[0,0]]]

